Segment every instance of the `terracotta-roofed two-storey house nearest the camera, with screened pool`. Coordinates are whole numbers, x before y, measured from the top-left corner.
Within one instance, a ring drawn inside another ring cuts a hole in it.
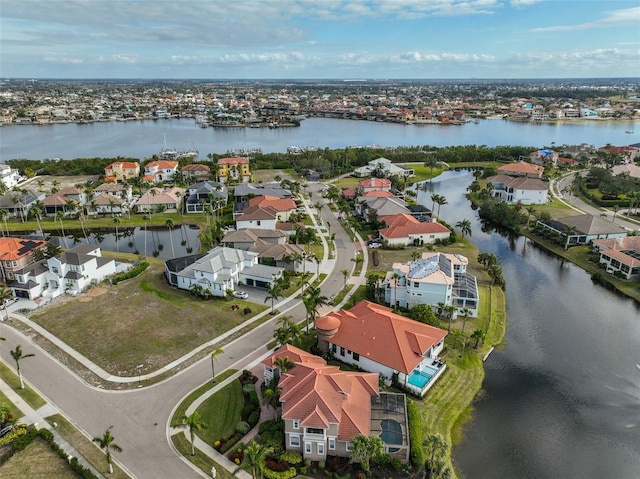
[[[276,359],[295,366],[282,373]],[[265,382],[279,377],[285,448],[304,459],[349,457],[354,437],[379,435],[385,450],[402,462],[409,459],[409,435],[404,394],[380,393],[378,374],[341,371],[291,345],[284,345],[263,362]],[[393,422],[394,433],[388,432]]]

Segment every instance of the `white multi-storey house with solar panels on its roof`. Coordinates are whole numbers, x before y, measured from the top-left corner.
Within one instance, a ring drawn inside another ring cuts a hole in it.
[[[408,263],[393,263],[384,279],[388,304],[411,309],[416,304],[436,308],[440,303],[455,306],[454,316],[465,308],[478,315],[480,296],[475,276],[467,273],[469,260],[459,254],[425,252]]]

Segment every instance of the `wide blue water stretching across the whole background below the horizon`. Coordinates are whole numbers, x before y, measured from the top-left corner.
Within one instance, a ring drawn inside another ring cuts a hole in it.
[[[640,123],[638,123],[640,132]],[[350,145],[543,146],[587,143],[628,145],[640,142],[628,134],[629,122],[579,121],[531,123],[479,120],[464,125],[402,125],[371,121],[308,118],[291,128],[200,128],[192,119],[102,122],[89,124],[11,125],[0,128],[0,161],[14,158],[150,158],[166,145],[196,148],[200,158],[230,149],[260,147],[284,153],[290,146],[346,148]]]

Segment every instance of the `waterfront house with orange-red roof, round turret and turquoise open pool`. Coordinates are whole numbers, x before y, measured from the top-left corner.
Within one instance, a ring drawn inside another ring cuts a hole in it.
[[[336,359],[397,377],[404,387],[423,396],[444,372],[440,360],[447,332],[414,321],[391,308],[363,300],[351,309],[316,319],[318,348]]]

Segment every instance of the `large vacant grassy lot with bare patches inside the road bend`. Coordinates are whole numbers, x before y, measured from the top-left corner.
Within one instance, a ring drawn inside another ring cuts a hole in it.
[[[201,344],[250,319],[267,305],[233,298],[203,301],[170,287],[164,263],[150,261],[140,276],[104,294],[61,297],[38,310],[32,320],[100,367],[119,376],[155,371]],[[240,306],[232,311],[231,305]]]

